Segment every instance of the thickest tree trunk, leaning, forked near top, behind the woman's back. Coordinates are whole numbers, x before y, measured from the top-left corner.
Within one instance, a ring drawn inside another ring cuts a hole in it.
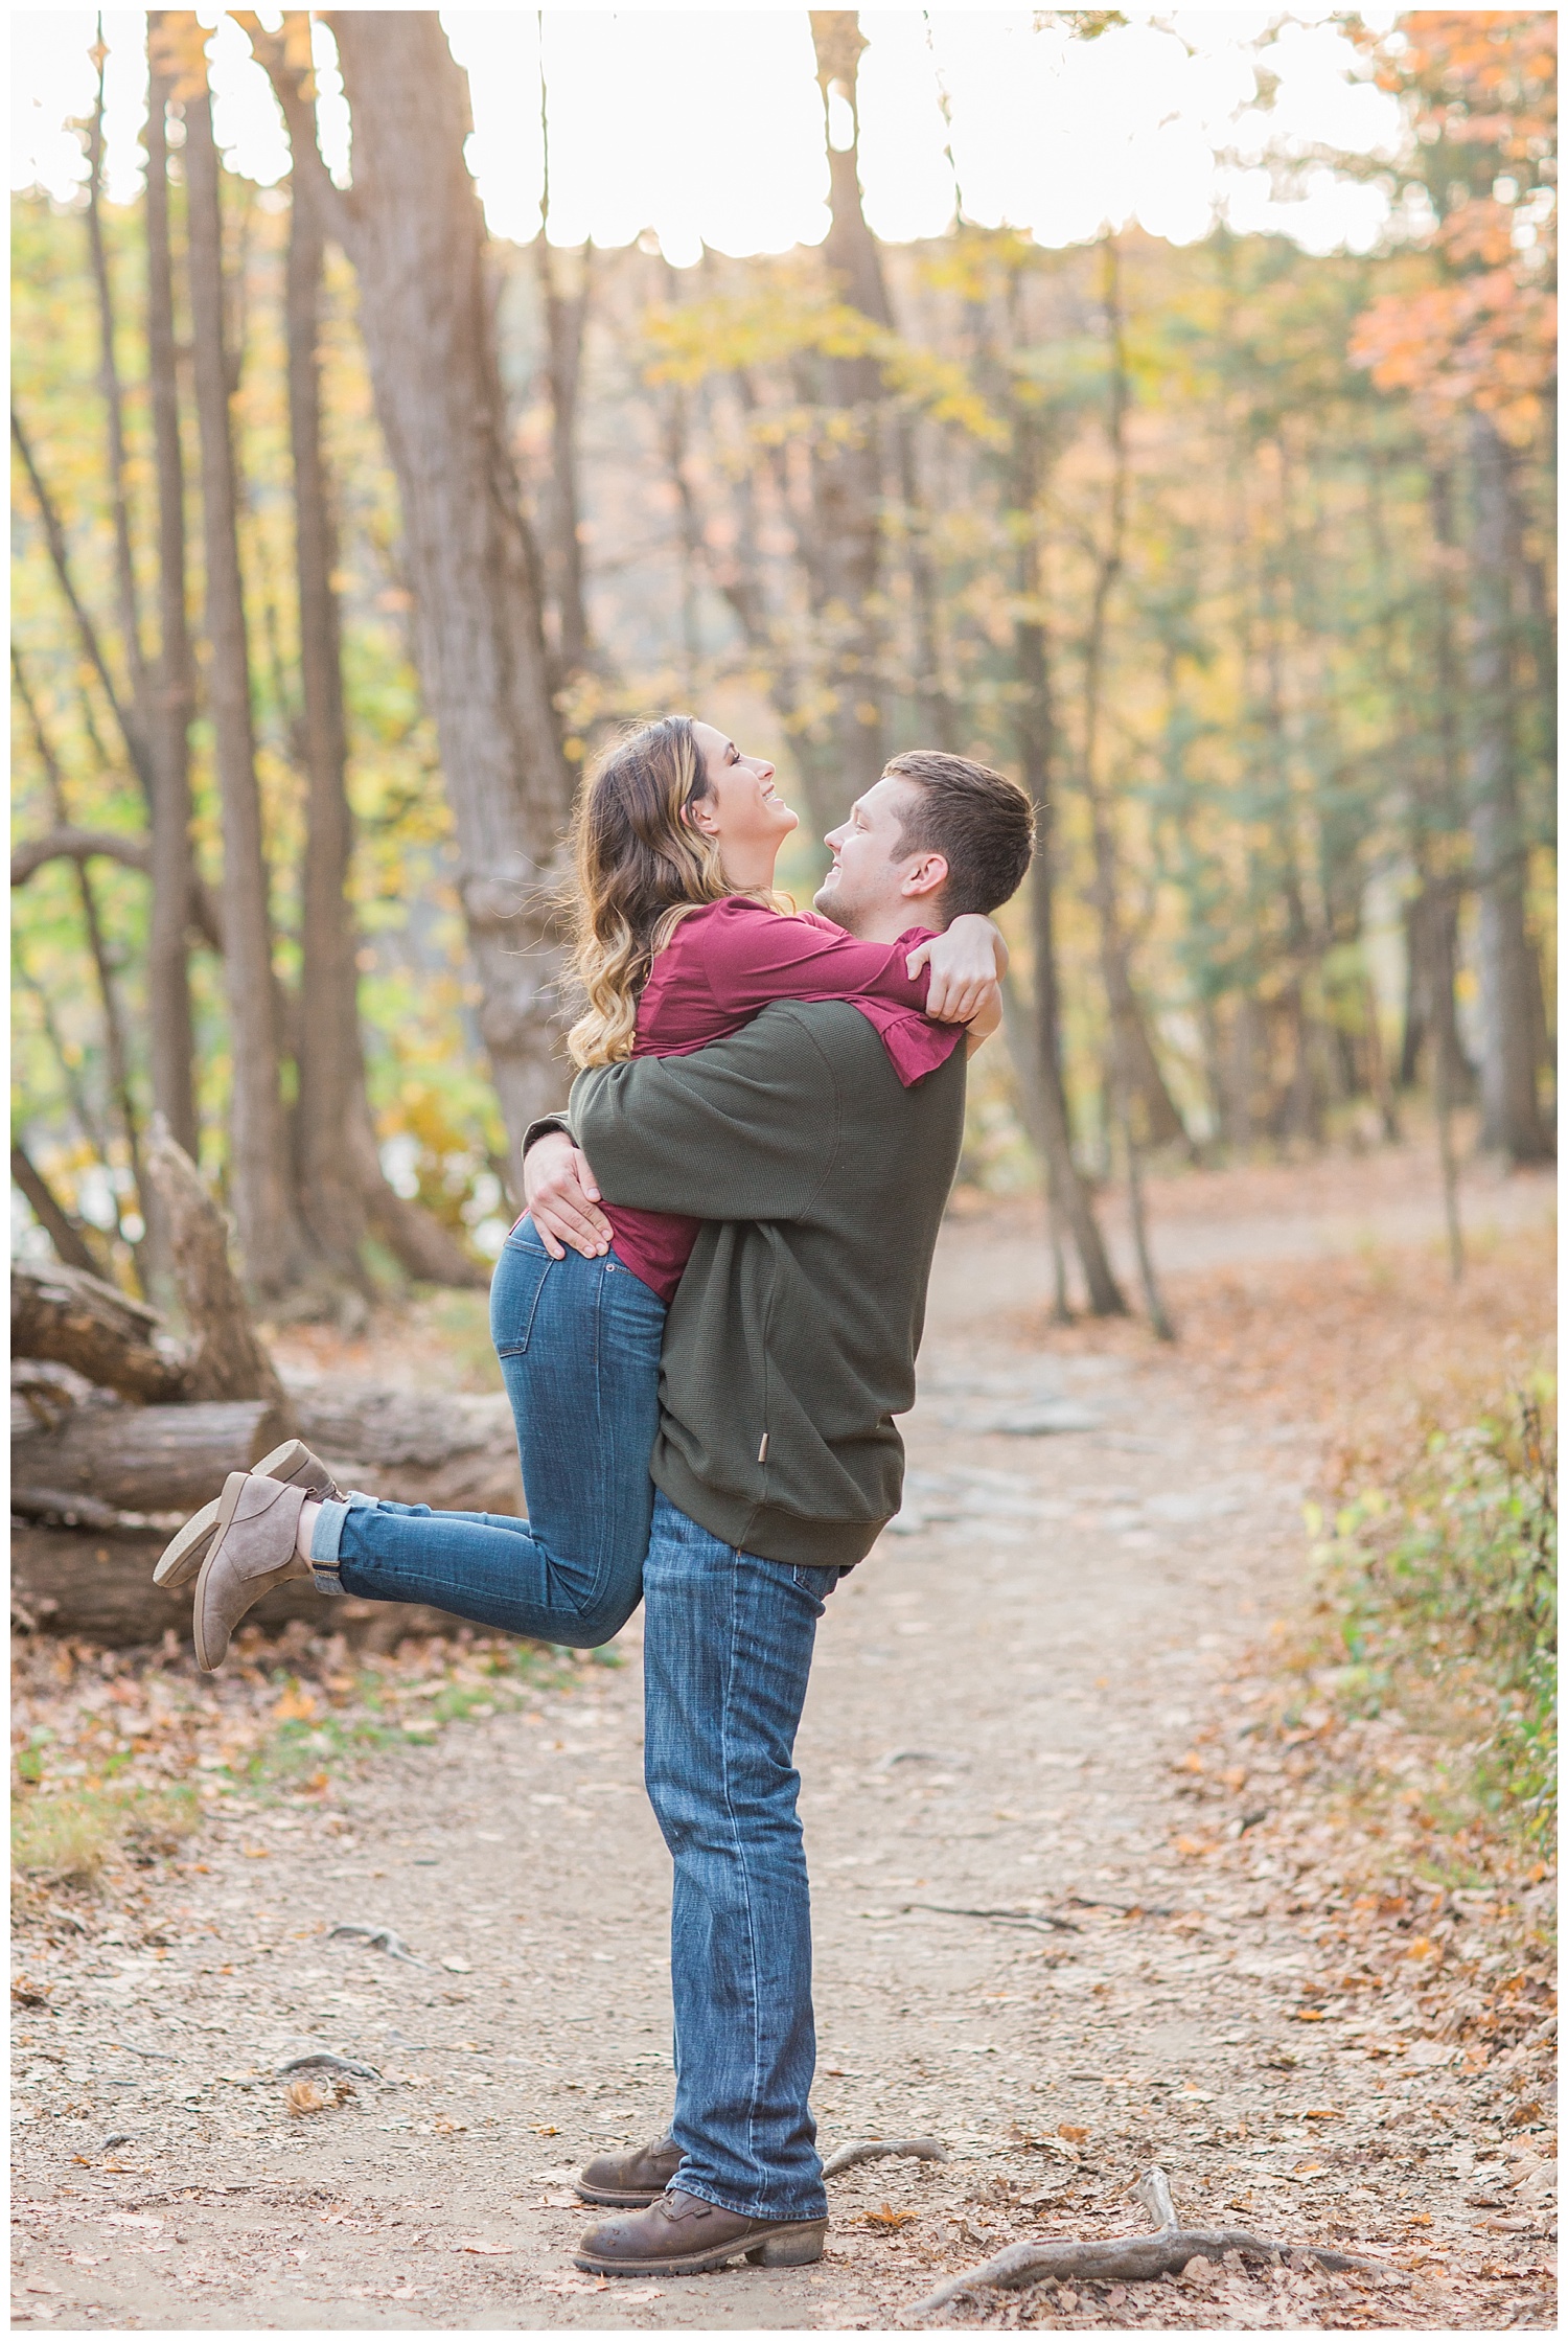
[[[360,281],[419,672],[456,824],[480,1032],[517,1149],[564,1086],[552,1053],[562,943],[545,887],[571,787],[538,557],[506,440],[484,222],[463,164],[468,91],[433,12],[344,9],[328,21],[353,115],[351,197],[321,164],[300,82],[274,70],[274,87],[295,192],[321,206]]]

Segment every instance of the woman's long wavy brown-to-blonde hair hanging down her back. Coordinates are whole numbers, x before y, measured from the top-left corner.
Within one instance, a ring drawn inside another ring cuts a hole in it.
[[[573,822],[573,972],[587,1009],[566,1035],[578,1065],[632,1053],[655,955],[702,904],[723,901],[718,845],[686,810],[707,796],[690,716],[646,723],[594,768]]]

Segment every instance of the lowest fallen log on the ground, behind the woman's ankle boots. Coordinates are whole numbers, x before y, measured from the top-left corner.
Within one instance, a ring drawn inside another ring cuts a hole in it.
[[[152,1564],[161,1529],[108,1536],[12,1524],[12,1618],[23,1632],[73,1634],[112,1650],[161,1641],[173,1629],[190,1641],[190,1587],[164,1592]],[[452,1634],[445,1611],[403,1601],[323,1599],[314,1585],[278,1585],[246,1618],[267,1634],[304,1618],[318,1634],[346,1634],[370,1650],[391,1650],[405,1634]]]

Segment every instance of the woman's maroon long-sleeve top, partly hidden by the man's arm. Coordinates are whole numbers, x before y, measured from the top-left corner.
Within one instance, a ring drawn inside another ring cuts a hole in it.
[[[690,1056],[740,1032],[775,1000],[847,1000],[882,1035],[894,1072],[910,1089],[943,1065],[964,1028],[924,1014],[929,967],[906,972],[931,927],[908,927],[896,943],[859,943],[814,911],[779,913],[730,894],[690,911],[653,962],[637,1002],[632,1056]],[[700,1220],[604,1203],[615,1257],[660,1299],[674,1299]]]

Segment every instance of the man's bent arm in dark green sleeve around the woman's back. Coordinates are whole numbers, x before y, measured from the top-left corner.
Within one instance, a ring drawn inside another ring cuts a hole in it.
[[[835,1053],[812,1032],[857,1009],[782,1004],[693,1056],[594,1065],[571,1086],[571,1131],[611,1203],[695,1220],[796,1220],[838,1145]]]

